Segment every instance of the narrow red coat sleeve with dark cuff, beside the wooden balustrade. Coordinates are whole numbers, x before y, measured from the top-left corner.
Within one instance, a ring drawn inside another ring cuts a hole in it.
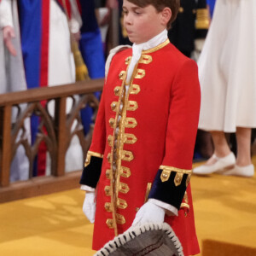
[[[104,86],[105,87],[105,86]],[[84,162],[84,170],[80,184],[96,188],[96,184],[102,172],[102,160],[106,145],[106,124],[105,124],[105,101],[104,89],[101,102],[96,116],[96,124],[93,131],[90,148]]]

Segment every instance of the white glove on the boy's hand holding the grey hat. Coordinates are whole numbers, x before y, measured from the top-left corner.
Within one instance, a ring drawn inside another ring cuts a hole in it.
[[[140,226],[145,223],[164,223],[165,210],[154,203],[146,202],[137,212],[132,226]]]

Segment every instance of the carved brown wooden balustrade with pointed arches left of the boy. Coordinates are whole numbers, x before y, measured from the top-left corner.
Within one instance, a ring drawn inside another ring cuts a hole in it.
[[[93,79],[0,95],[0,202],[79,187],[81,170],[65,173],[65,155],[71,140],[77,136],[85,156],[93,124],[84,137],[79,113],[82,108],[90,106],[94,109],[92,119],[95,119],[99,102],[93,92],[102,90],[102,86],[103,79]],[[72,102],[68,112],[67,99]],[[54,108],[54,113],[49,113],[48,107],[53,101],[55,104],[51,108]],[[39,119],[34,143],[30,143],[25,125],[32,115]],[[33,161],[42,142],[46,144],[51,159],[50,175],[32,177]],[[10,183],[11,162],[20,145],[25,148],[29,161],[29,179]]]

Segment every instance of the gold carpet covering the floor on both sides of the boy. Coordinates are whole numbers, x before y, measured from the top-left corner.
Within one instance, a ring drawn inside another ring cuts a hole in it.
[[[200,255],[256,255],[256,177],[194,176],[191,184]],[[83,201],[72,189],[1,204],[0,255],[93,255]]]

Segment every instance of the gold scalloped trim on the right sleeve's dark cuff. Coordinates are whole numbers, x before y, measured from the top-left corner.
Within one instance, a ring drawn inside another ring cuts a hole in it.
[[[160,166],[160,169],[163,170],[160,176],[161,181],[166,182],[171,176],[171,172],[176,172],[174,177],[175,186],[179,186],[183,180],[183,174],[188,174],[186,185],[189,184],[189,179],[192,175],[192,170],[179,169],[177,167],[172,166]]]

